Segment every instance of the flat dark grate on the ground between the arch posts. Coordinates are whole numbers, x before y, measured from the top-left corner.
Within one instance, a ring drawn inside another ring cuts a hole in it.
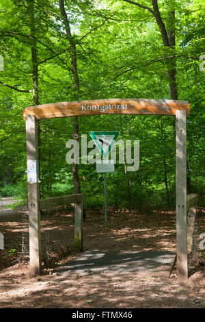
[[[88,250],[55,270],[60,274],[104,273],[154,273],[167,269],[167,277],[174,262],[175,254],[166,251],[98,251]]]

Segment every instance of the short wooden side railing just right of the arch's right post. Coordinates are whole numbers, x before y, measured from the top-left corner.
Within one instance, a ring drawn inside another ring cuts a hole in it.
[[[191,194],[187,196],[187,252],[192,252],[193,233],[195,227],[195,214],[197,209],[198,195]]]

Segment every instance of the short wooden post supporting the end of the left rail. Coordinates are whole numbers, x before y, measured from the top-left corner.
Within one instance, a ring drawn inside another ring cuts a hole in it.
[[[74,248],[83,249],[83,202],[74,205]]]

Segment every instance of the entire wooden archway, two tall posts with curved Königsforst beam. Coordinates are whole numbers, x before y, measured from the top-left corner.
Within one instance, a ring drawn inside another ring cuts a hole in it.
[[[186,116],[190,105],[187,101],[168,99],[97,99],[68,101],[31,106],[23,110],[27,131],[27,162],[36,166],[36,179],[28,182],[29,195],[29,249],[30,270],[41,273],[40,201],[38,182],[38,131],[37,122],[56,117],[88,116],[100,114],[151,114],[176,118],[176,244],[178,279],[188,277],[187,264],[187,134]],[[36,180],[36,181],[35,181]],[[82,229],[82,227],[81,227]]]

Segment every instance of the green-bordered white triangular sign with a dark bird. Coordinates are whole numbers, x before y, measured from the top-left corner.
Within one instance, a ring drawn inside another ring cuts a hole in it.
[[[107,158],[115,144],[120,132],[90,132],[90,136],[94,140],[96,147],[102,154],[103,158]]]

